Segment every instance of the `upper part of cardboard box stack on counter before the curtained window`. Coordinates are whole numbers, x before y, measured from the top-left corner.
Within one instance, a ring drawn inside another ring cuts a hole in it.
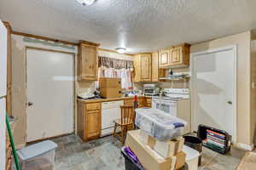
[[[100,77],[99,88],[121,88],[121,79]]]

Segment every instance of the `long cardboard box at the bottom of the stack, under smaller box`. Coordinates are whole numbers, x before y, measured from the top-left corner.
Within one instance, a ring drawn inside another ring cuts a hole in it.
[[[186,155],[183,152],[165,159],[147,144],[144,144],[140,139],[140,130],[129,131],[125,145],[131,148],[147,170],[174,170],[185,164]]]

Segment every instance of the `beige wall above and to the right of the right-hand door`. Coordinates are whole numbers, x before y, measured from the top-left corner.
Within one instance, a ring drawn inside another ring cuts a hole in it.
[[[222,48],[237,45],[237,142],[252,144],[251,115],[250,115],[250,41],[251,31],[242,32],[229,37],[218,38],[209,42],[202,42],[191,46],[191,53],[211,48]]]

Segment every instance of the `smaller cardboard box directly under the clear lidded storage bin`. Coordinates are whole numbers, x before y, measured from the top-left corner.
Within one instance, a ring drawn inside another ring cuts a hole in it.
[[[183,150],[183,137],[166,142],[160,142],[159,140],[149,136],[143,130],[140,131],[140,137],[143,143],[148,144],[152,150],[155,150],[164,158],[175,156],[178,152]]]

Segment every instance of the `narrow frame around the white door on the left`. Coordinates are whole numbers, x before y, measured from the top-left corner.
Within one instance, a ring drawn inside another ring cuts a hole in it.
[[[55,50],[55,49],[49,49],[49,48],[37,48],[37,47],[31,47],[31,46],[26,46],[25,47],[25,63],[26,63],[26,117],[27,117],[27,55],[26,55],[26,51],[28,49],[36,49],[36,50],[42,50],[42,51],[47,51],[47,52],[53,52],[53,53],[61,53],[61,54],[71,54],[73,56],[73,133],[75,132],[75,118],[76,118],[76,114],[75,114],[75,111],[76,111],[76,105],[75,105],[75,102],[76,102],[76,59],[75,59],[75,56],[76,54],[75,53],[72,53],[72,52],[66,52],[66,51],[61,51],[61,50]],[[69,133],[63,133],[63,134],[60,134],[60,135],[56,135],[56,136],[53,136],[53,137],[50,137],[50,138],[44,138],[44,139],[53,139],[53,138],[56,138],[56,137],[61,137],[61,136],[65,136]],[[27,138],[27,118],[26,118],[26,138]],[[44,140],[44,139],[38,139],[38,140],[35,140],[35,141],[31,141],[31,142],[36,142],[36,141],[41,141],[41,140]],[[26,140],[26,139],[25,139]],[[31,143],[29,142],[29,143]],[[26,140],[26,143],[27,143],[27,140]]]

